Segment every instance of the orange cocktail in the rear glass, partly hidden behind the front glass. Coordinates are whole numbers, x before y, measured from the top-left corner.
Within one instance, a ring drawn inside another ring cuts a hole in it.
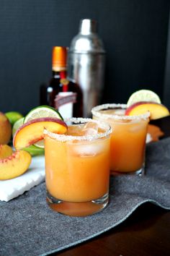
[[[125,104],[104,104],[94,107],[94,119],[112,127],[110,169],[112,174],[142,174],[145,163],[149,113],[125,116]]]

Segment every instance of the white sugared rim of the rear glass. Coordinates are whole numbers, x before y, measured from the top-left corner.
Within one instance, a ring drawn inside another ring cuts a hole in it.
[[[120,104],[120,103],[107,103],[107,104],[102,104],[99,106],[95,106],[94,108],[91,109],[91,113],[94,116],[97,116],[98,118],[102,119],[116,119],[116,120],[136,120],[136,119],[148,119],[148,117],[150,116],[150,112],[147,111],[144,114],[139,114],[139,115],[135,115],[135,116],[120,116],[117,114],[104,114],[99,112],[100,110],[104,110],[104,109],[109,109],[109,108],[122,108],[125,109],[127,108],[126,104]]]

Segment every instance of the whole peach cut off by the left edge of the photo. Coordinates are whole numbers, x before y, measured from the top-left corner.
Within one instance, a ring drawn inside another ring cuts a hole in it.
[[[0,144],[8,144],[12,136],[12,125],[9,119],[0,112]]]

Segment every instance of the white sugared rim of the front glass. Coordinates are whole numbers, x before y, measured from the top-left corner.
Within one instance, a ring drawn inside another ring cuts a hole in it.
[[[104,129],[104,130],[106,130],[106,132],[102,132],[102,133],[99,133],[97,135],[73,136],[73,135],[59,135],[57,133],[50,132],[47,129],[44,129],[44,134],[48,135],[52,139],[59,140],[61,142],[66,142],[66,141],[73,141],[73,140],[92,141],[92,140],[100,139],[102,137],[107,137],[109,134],[112,133],[112,128],[109,126],[109,124],[107,124],[105,122],[97,121],[97,120],[94,120],[94,119],[81,118],[81,117],[78,117],[78,118],[73,117],[71,119],[65,119],[64,121],[66,123],[68,123],[68,121],[70,121],[70,122],[72,121],[74,124],[84,124],[84,123],[86,123],[88,121],[91,121],[91,122],[94,122],[96,124],[99,124],[99,127]]]

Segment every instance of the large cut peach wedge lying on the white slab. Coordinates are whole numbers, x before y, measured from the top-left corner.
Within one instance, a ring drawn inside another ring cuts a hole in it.
[[[31,163],[31,155],[24,150],[12,153],[8,158],[0,160],[0,179],[13,179],[24,174]]]

